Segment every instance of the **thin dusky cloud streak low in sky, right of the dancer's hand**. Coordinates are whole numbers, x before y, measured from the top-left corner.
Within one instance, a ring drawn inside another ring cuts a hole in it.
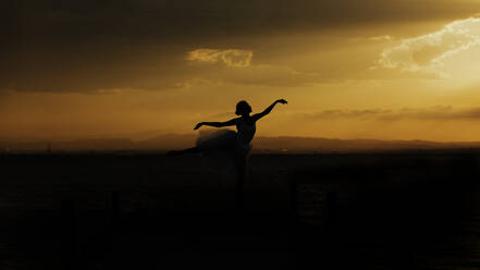
[[[399,110],[324,110],[317,113],[304,113],[304,119],[316,120],[480,120],[480,108],[455,110],[452,106],[435,106],[430,108],[404,108]]]

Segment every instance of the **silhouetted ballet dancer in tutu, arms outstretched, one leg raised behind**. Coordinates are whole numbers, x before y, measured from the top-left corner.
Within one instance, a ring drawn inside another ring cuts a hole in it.
[[[243,186],[245,182],[246,160],[251,149],[250,142],[256,132],[256,123],[258,120],[269,114],[276,103],[286,105],[285,99],[279,99],[271,106],[267,107],[262,112],[250,115],[251,107],[247,101],[242,100],[236,105],[235,114],[239,118],[232,119],[226,122],[200,122],[194,130],[200,128],[202,125],[213,127],[224,127],[235,125],[237,132],[232,130],[220,130],[218,132],[202,135],[197,139],[196,147],[184,150],[169,151],[170,156],[179,156],[185,154],[209,154],[216,151],[227,152],[232,156],[234,168],[237,173],[235,201],[239,208],[243,204]]]

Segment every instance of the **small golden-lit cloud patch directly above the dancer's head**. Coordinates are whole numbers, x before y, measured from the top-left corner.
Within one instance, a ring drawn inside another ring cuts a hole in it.
[[[227,66],[245,68],[250,65],[254,53],[248,50],[229,49],[197,49],[188,53],[187,60],[199,62],[222,62]]]

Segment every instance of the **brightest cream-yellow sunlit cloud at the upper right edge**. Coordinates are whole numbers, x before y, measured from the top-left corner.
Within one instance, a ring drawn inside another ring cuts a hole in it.
[[[385,48],[376,66],[441,74],[445,60],[480,45],[480,17],[455,21],[440,30]]]

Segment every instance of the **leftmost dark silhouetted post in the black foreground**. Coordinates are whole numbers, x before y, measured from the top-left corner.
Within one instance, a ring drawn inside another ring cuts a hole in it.
[[[62,251],[65,270],[75,269],[76,253],[76,206],[73,200],[62,200]]]

